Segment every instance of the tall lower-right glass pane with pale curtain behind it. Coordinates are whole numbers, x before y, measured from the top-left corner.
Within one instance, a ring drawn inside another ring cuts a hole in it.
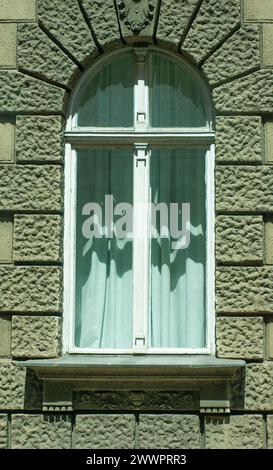
[[[151,195],[150,345],[205,347],[204,151],[154,151]]]

